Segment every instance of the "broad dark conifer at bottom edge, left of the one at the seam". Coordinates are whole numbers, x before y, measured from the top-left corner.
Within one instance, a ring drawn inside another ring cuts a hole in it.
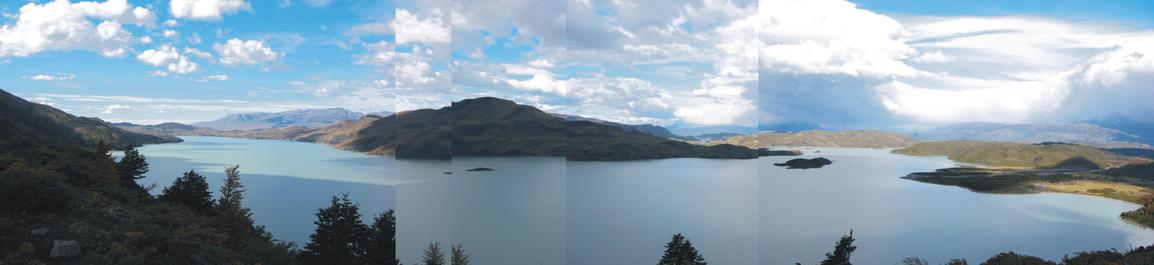
[[[332,196],[332,204],[316,212],[316,232],[301,252],[301,263],[366,264],[369,228],[360,218],[360,205],[349,194]]]

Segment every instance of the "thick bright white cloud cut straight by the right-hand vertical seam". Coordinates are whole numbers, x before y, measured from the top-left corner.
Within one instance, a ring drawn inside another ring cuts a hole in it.
[[[913,76],[898,21],[844,0],[762,0],[762,67],[807,74]]]

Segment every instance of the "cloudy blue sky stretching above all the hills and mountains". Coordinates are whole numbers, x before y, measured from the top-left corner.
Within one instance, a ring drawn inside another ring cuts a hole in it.
[[[0,3],[0,89],[159,123],[501,97],[680,132],[1154,122],[1154,2]]]

